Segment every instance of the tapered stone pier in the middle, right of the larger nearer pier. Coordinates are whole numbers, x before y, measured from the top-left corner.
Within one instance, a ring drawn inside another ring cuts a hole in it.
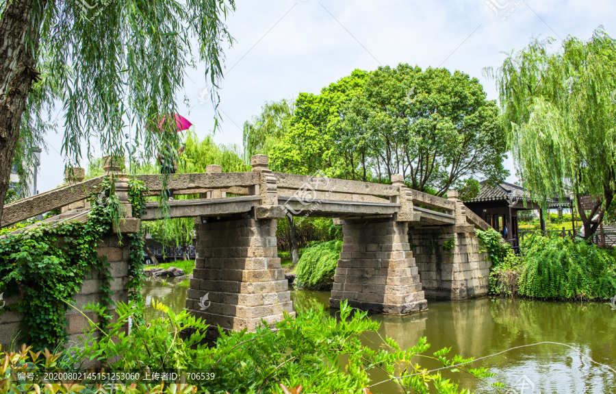
[[[392,219],[343,221],[331,308],[344,299],[352,307],[392,315],[427,308],[407,231],[407,223]]]

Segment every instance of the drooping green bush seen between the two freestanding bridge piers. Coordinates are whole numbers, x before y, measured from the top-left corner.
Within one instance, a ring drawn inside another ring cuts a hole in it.
[[[296,286],[309,290],[331,288],[342,241],[308,245],[297,263]]]

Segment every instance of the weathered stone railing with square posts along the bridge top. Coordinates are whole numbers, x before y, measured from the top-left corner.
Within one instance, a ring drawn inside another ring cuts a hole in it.
[[[121,162],[121,160],[116,161]],[[198,195],[200,197],[198,200],[181,200],[182,203],[174,201],[174,204],[186,206],[183,209],[185,211],[183,216],[180,214],[180,217],[190,216],[190,212],[195,209],[195,206],[201,204],[200,201],[203,201],[203,199],[221,199],[232,194],[240,196],[235,198],[241,200],[237,201],[238,204],[243,204],[233,208],[238,210],[244,206],[255,206],[257,219],[285,217],[284,204],[288,201],[295,201],[296,205],[298,201],[304,203],[308,196],[308,201],[329,202],[331,204],[330,213],[336,210],[333,204],[337,204],[339,212],[341,214],[344,212],[345,216],[348,216],[349,212],[357,210],[360,213],[370,212],[372,215],[375,212],[389,216],[394,214],[396,221],[403,222],[422,221],[424,224],[452,225],[466,224],[468,221],[468,223],[479,227],[484,224],[487,225],[476,215],[472,216],[470,210],[465,210],[457,197],[455,199],[444,199],[411,190],[404,184],[402,175],[392,175],[392,184],[377,184],[339,180],[325,176],[277,173],[271,171],[268,164],[268,156],[255,155],[251,158],[253,167],[251,172],[223,173],[220,166],[211,165],[207,166],[205,173],[169,175],[166,182],[163,182],[159,174],[135,176],[149,188],[149,195],[151,196],[159,195],[164,187],[174,190],[175,195]],[[118,176],[116,191],[120,196],[120,203],[125,206],[125,218],[131,219],[127,194],[129,175],[120,173],[120,168],[110,164],[110,160],[105,160],[104,169],[107,173],[114,173]],[[65,186],[23,199],[14,204],[8,204],[4,208],[1,226],[12,225],[58,208],[62,208],[62,212],[77,208],[88,208],[84,199],[97,189],[103,177],[93,178],[85,182],[83,177],[83,169],[74,169],[71,173],[65,174],[67,180]],[[250,197],[241,196],[254,197],[251,199],[253,202],[244,201],[242,198],[250,199]],[[233,202],[230,199],[224,201],[228,201],[229,204]],[[224,201],[210,201],[207,204],[222,204]],[[148,204],[151,209],[144,219],[152,220],[159,216],[156,213],[155,204]],[[203,204],[205,204],[205,201],[203,201]],[[366,204],[372,208],[365,208]],[[222,206],[219,208],[224,210]],[[209,212],[209,210],[203,209],[198,212],[202,211]],[[195,212],[194,217],[199,216],[198,212]],[[462,220],[464,214],[466,216]]]

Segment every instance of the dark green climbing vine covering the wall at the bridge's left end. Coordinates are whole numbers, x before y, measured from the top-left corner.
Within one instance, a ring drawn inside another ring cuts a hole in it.
[[[143,208],[144,186],[131,183],[131,204],[137,214]],[[112,304],[110,263],[97,253],[97,242],[112,233],[112,223],[119,219],[120,202],[114,182],[105,178],[90,201],[91,210],[85,223],[67,221],[42,223],[19,234],[0,238],[0,293],[18,295],[20,301],[5,310],[23,313],[21,338],[40,349],[53,349],[66,337],[66,301],[74,301],[86,275],[101,275],[101,303],[95,308],[102,323],[108,322]],[[131,246],[138,247],[136,236]],[[133,245],[134,243],[134,245]],[[131,253],[130,286],[140,279],[141,262]],[[135,291],[131,291],[134,297]]]

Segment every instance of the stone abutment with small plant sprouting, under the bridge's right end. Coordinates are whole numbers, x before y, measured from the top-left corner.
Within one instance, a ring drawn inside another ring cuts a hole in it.
[[[450,241],[453,247],[444,247]],[[487,294],[491,262],[487,253],[479,251],[472,225],[411,228],[409,243],[426,297],[464,299]]]

